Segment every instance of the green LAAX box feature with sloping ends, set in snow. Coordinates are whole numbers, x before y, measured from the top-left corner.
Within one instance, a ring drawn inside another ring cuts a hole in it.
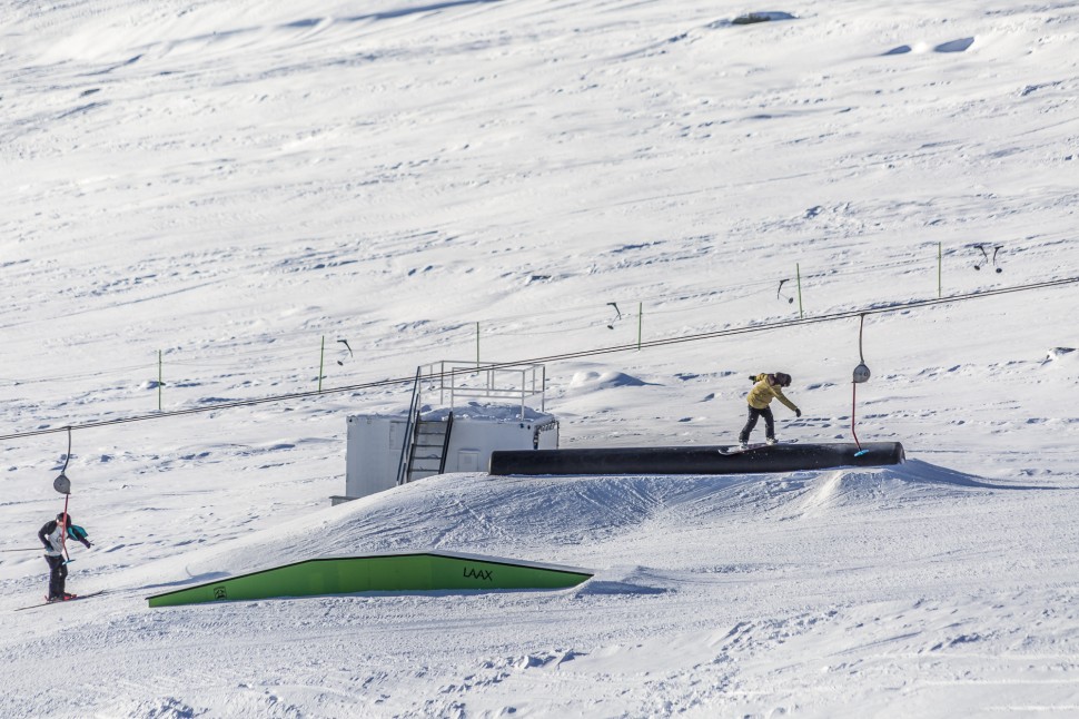
[[[147,598],[151,608],[362,592],[565,589],[592,578],[570,567],[454,552],[314,559]]]

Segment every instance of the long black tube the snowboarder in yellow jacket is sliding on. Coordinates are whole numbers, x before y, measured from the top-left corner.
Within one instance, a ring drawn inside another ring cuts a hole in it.
[[[513,450],[491,453],[491,474],[761,474],[884,466],[905,459],[899,442],[724,446]]]

